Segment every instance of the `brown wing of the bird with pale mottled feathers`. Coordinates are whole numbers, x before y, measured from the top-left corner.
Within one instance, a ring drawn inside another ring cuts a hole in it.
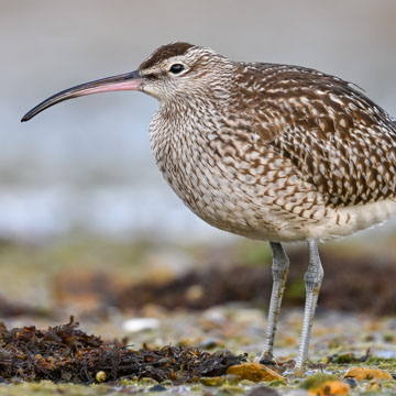
[[[396,124],[364,94],[298,66],[240,72],[237,114],[332,206],[396,196]]]

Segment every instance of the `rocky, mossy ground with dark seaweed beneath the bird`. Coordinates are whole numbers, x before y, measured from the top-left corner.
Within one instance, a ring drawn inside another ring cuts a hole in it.
[[[4,242],[0,395],[396,395],[393,249],[380,258],[369,244],[321,249],[310,361],[295,377],[306,261],[297,248],[277,364],[262,366],[253,363],[271,293],[262,244]]]

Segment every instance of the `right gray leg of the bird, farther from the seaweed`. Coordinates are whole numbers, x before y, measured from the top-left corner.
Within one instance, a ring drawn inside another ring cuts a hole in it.
[[[304,276],[306,285],[306,305],[304,310],[302,331],[298,358],[296,360],[296,365],[294,369],[294,373],[296,375],[304,374],[304,365],[308,354],[308,344],[314,323],[315,309],[318,301],[320,285],[323,279],[323,268],[320,263],[316,241],[308,241],[308,252],[309,265],[308,271]]]

